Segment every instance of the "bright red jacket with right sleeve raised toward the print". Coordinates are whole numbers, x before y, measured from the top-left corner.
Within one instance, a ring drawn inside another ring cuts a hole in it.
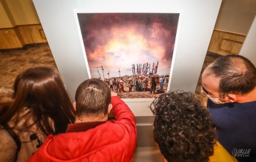
[[[134,114],[119,97],[111,97],[115,119],[82,132],[48,136],[31,161],[132,161],[136,147]]]

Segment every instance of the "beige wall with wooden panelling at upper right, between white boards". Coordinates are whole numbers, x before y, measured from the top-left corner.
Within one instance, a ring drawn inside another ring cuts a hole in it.
[[[222,0],[208,51],[239,54],[256,13],[256,0]]]

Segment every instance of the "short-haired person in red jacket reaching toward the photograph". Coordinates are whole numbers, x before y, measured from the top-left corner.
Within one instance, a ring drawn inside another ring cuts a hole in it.
[[[136,122],[130,108],[100,79],[76,90],[76,123],[66,133],[48,136],[31,161],[132,161]],[[112,111],[114,119],[108,120]]]

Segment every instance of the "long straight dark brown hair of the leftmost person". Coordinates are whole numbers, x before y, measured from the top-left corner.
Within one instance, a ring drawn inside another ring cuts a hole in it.
[[[70,96],[55,70],[48,67],[29,68],[15,78],[13,90],[13,102],[4,112],[1,124],[9,122],[14,114],[23,114],[24,108],[29,109],[34,122],[45,134],[64,133],[67,124],[74,122]]]

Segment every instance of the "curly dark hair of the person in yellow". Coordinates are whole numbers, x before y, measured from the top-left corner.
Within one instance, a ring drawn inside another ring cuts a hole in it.
[[[167,161],[209,161],[216,131],[205,106],[191,92],[168,92],[153,100],[153,136]]]

